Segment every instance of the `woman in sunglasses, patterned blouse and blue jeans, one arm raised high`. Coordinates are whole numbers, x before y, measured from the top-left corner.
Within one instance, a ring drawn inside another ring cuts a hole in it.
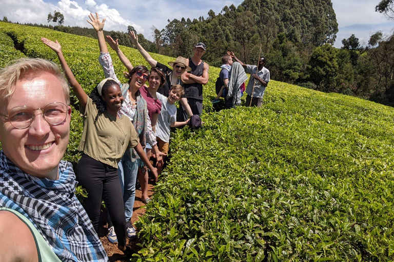
[[[99,15],[97,13],[96,17],[94,17],[93,14],[90,14],[89,18],[90,21],[88,20],[88,23],[93,26],[99,40],[99,61],[103,67],[104,74],[106,77],[111,77],[115,79],[117,83],[122,85],[115,75],[112,59],[108,53],[108,48],[105,42],[103,31],[105,18],[103,21],[100,21]],[[126,66],[126,68],[129,70],[129,82],[122,85],[123,87],[128,87],[128,89],[120,113],[122,115],[126,115],[132,121],[135,131],[140,138],[141,144],[145,146],[147,143],[149,143],[152,146],[153,154],[156,156],[156,162],[162,164],[162,156],[164,154],[157,148],[156,136],[152,130],[151,121],[148,116],[147,103],[140,93],[140,89],[144,86],[145,82],[149,78],[148,69],[144,65],[132,67],[131,63],[130,65]],[[119,177],[121,179],[121,185],[123,185],[124,192],[123,201],[125,204],[127,236],[131,239],[136,238],[135,228],[131,224],[130,220],[133,213],[135,182],[139,167],[143,167],[143,163],[141,163],[141,159],[138,157],[138,155],[135,154],[135,150],[127,150],[121,162],[119,163]],[[153,174],[157,180],[157,173],[153,172]],[[108,226],[108,239],[111,243],[115,243],[117,242],[117,239],[113,234],[110,222]]]

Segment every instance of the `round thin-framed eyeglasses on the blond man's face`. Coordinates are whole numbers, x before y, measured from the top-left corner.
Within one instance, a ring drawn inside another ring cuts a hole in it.
[[[50,125],[59,125],[66,120],[70,109],[64,103],[53,102],[47,104],[44,108],[35,108],[34,110],[29,106],[19,105],[11,108],[7,115],[0,115],[6,117],[7,121],[16,129],[25,129],[31,125],[36,115],[43,115],[44,120]],[[37,110],[40,110],[41,113],[34,114]]]

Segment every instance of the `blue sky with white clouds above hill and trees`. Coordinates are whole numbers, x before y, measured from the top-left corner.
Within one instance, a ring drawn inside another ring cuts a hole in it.
[[[342,39],[351,34],[365,44],[377,31],[391,33],[394,21],[375,12],[379,1],[331,0],[339,24],[335,47],[340,48]],[[48,13],[56,10],[64,14],[65,25],[88,27],[88,14],[98,11],[107,19],[105,29],[127,31],[127,26],[131,25],[152,39],[151,27],[163,29],[168,19],[207,17],[210,9],[218,14],[225,5],[238,6],[241,3],[241,0],[0,0],[0,18],[7,16],[13,22],[47,24]]]

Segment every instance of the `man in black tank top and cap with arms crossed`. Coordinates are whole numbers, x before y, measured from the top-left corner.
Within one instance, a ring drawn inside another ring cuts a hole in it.
[[[203,85],[208,83],[209,65],[201,60],[205,54],[206,46],[199,42],[194,47],[194,55],[189,58],[188,66],[191,72],[185,72],[182,82],[185,88],[185,97],[194,115],[200,115],[203,111]],[[185,99],[185,98],[183,98]],[[188,118],[183,106],[179,108],[179,121],[186,121]]]

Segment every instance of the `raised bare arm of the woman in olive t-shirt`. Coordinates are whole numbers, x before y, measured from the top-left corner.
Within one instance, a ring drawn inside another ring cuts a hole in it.
[[[80,83],[78,83],[78,81],[75,79],[74,74],[72,73],[70,67],[68,66],[66,59],[63,56],[62,46],[57,40],[56,42],[54,42],[45,37],[41,37],[41,40],[43,41],[43,43],[45,43],[45,45],[47,45],[50,49],[56,52],[60,64],[62,65],[63,71],[66,74],[68,82],[70,83],[72,89],[74,90],[76,98],[78,98],[78,101],[80,101],[81,106],[85,108],[86,103],[88,102],[88,95],[82,89]]]

